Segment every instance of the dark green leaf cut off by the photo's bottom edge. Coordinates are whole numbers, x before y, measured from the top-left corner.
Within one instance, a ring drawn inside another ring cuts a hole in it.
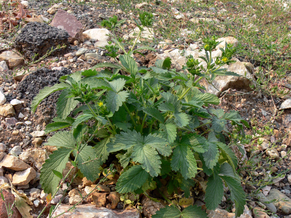
[[[182,212],[175,206],[167,205],[160,208],[152,218],[207,218],[207,213],[196,205],[190,205]]]

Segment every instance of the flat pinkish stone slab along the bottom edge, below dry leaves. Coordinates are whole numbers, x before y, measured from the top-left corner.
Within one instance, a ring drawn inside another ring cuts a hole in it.
[[[71,206],[61,204],[52,216],[56,216],[68,210]],[[58,218],[139,218],[139,212],[135,209],[118,210],[97,208],[92,204],[77,205],[75,210],[66,212]]]

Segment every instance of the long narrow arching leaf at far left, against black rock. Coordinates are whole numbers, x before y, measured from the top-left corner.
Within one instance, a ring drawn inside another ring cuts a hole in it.
[[[42,90],[39,91],[37,96],[34,97],[33,100],[31,101],[31,105],[30,105],[31,111],[35,112],[39,103],[48,95],[52,94],[53,92],[60,91],[68,87],[70,87],[70,85],[67,83],[58,83],[58,84],[53,85],[52,87],[48,87],[48,86],[44,87]]]

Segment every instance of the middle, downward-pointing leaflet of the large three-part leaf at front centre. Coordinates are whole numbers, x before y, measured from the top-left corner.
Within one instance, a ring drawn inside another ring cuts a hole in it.
[[[158,152],[150,145],[136,145],[133,147],[132,160],[141,163],[142,168],[152,177],[161,172],[161,158]]]

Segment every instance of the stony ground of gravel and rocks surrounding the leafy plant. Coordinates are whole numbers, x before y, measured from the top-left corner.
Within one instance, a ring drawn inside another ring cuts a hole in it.
[[[169,1],[169,4],[171,2]],[[118,7],[109,5],[108,2],[97,3],[96,1],[92,5],[63,2],[49,5],[47,1],[30,0],[22,1],[21,4],[26,9],[26,13],[31,16],[26,17],[25,22],[18,20],[23,27],[13,37],[4,33],[0,38],[0,73],[3,76],[0,85],[0,185],[11,182],[13,188],[22,193],[26,202],[30,204],[31,216],[37,217],[46,204],[47,196],[39,184],[40,169],[49,154],[55,150],[54,147],[45,145],[47,137],[51,134],[45,135],[43,130],[46,124],[56,116],[55,103],[59,93],[56,92],[42,101],[35,114],[32,114],[30,110],[33,97],[43,87],[57,83],[61,76],[89,69],[99,62],[114,62],[105,56],[106,52],[101,48],[111,40],[108,36],[110,32],[98,25],[103,19],[112,15],[118,15],[119,19],[126,19],[127,22],[118,33],[125,40],[134,39],[136,37],[134,32],[138,27],[132,21],[134,12],[127,14]],[[135,5],[137,9],[147,7],[149,7],[148,3]],[[209,8],[209,10],[212,9]],[[199,22],[199,18],[180,13],[176,8],[173,8],[172,13],[177,20],[192,19],[194,23]],[[158,14],[155,16],[159,18]],[[4,22],[3,28],[8,27]],[[190,40],[189,35],[191,33],[187,30],[181,32],[181,38],[187,41],[181,46],[178,43],[180,39],[173,42],[157,33],[155,28],[145,29],[140,42],[152,43],[156,52],[144,51],[144,56],[137,54],[135,55],[136,62],[140,66],[148,67],[157,59],[170,57],[173,67],[177,70],[182,69],[185,63],[183,52],[187,55],[191,54],[194,58],[203,55],[200,53],[202,41]],[[15,40],[11,42],[11,39]],[[234,45],[239,43],[231,36],[223,37],[219,41],[223,42],[213,51],[214,58],[221,55],[219,47],[222,47],[225,42]],[[63,44],[66,47],[57,49],[57,45]],[[34,63],[51,49],[56,50]],[[221,98],[219,108],[226,111],[239,111],[241,116],[254,127],[254,129],[245,129],[245,132],[252,136],[252,140],[244,145],[245,156],[239,156],[242,185],[249,200],[241,218],[273,218],[274,215],[291,217],[291,155],[289,152],[291,101],[253,92],[250,85],[255,85],[254,72],[259,70],[258,66],[243,62],[239,57],[233,60],[236,62],[226,68],[242,77],[218,76],[212,85],[205,81],[201,81],[201,85],[205,86],[207,92]],[[29,67],[26,67],[27,65]],[[287,86],[288,84],[285,85]],[[281,112],[283,109],[284,112]],[[268,132],[268,128],[273,131]],[[253,167],[251,167],[252,164]],[[69,168],[70,165],[68,165]],[[68,169],[65,169],[63,174]],[[203,173],[196,179],[201,182],[204,182],[204,179],[207,180]],[[263,186],[260,185],[262,181],[264,181]],[[104,198],[101,205],[97,203],[99,201],[94,201],[94,197],[87,198],[77,206],[75,211],[67,212],[61,217],[140,217],[140,213],[134,207],[128,207],[129,205],[123,202],[118,202],[113,207],[113,197],[117,195],[119,201],[114,184],[115,182],[110,180],[100,186],[101,191],[95,193],[96,196],[102,195]],[[78,202],[79,192],[86,195],[92,190],[92,186],[94,187],[94,183],[87,181],[86,178],[76,179],[65,196],[61,191],[55,199],[52,199],[51,203],[56,204],[63,197],[63,202],[54,215],[66,211],[69,205]],[[63,189],[65,188],[67,187],[64,184]],[[13,202],[13,199],[10,199],[13,196],[6,191],[4,193],[5,198],[7,195],[8,201]],[[195,205],[205,208],[201,194],[195,194],[193,198]],[[266,201],[271,202],[265,203]],[[207,211],[208,217],[234,217],[232,208],[226,208],[225,202],[226,199],[223,200],[220,208]],[[151,217],[158,208],[165,205],[163,201],[154,202],[145,196],[140,203],[143,206],[142,217]],[[98,208],[97,205],[104,207]],[[3,201],[0,199],[0,217],[3,213],[5,214],[6,209],[4,209]],[[265,210],[274,215],[266,213]],[[47,215],[48,211],[43,217]],[[13,217],[18,218],[21,215],[15,211]]]

